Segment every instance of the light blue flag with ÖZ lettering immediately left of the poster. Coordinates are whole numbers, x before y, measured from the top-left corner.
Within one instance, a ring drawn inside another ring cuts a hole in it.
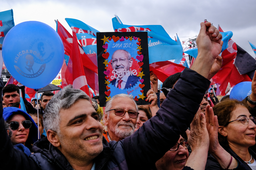
[[[82,45],[85,54],[97,66],[96,32],[99,31],[77,19],[65,18],[65,20],[71,29],[76,30],[77,39]]]

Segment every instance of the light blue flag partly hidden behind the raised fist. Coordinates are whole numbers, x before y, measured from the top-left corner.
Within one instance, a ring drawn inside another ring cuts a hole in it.
[[[222,52],[222,51],[224,51],[228,48],[228,41],[233,36],[233,32],[232,31],[227,31],[227,32],[220,32],[220,33],[222,35],[221,41],[223,41],[223,45],[222,45],[222,48],[221,48],[221,52]],[[194,49],[184,51],[184,53],[186,53],[188,55],[191,55],[194,58],[197,58],[198,51],[197,51],[197,48],[194,48]]]

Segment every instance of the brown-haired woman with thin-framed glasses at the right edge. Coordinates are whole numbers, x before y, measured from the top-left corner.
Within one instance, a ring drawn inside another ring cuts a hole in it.
[[[255,117],[236,100],[220,102],[213,107],[213,112],[218,117],[219,144],[231,156],[239,159],[246,169],[256,169],[256,154],[249,148],[255,145]],[[212,155],[208,156],[206,169],[220,169]]]

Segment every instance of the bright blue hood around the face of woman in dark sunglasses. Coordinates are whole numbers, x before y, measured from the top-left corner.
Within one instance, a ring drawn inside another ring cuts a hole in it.
[[[34,120],[31,118],[31,116],[25,111],[17,107],[5,107],[3,109],[3,118],[5,121],[8,121],[13,115],[16,115],[16,114],[23,115],[26,118],[26,120],[30,120],[31,127],[29,128],[29,134],[28,134],[28,139],[26,143],[29,143],[29,144],[35,143],[38,139],[38,129],[37,129],[37,125],[35,124]],[[32,152],[31,150],[32,146],[27,146],[27,147]]]

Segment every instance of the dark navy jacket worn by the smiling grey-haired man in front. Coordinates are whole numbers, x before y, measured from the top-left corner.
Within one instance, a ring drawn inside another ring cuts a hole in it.
[[[174,144],[192,122],[210,81],[193,70],[185,69],[163,101],[156,116],[129,137],[106,142],[94,158],[96,170],[150,169]],[[1,99],[0,99],[1,101]],[[1,103],[0,103],[1,106]],[[0,108],[1,109],[1,108]],[[4,129],[0,110],[0,165],[8,169],[73,169],[66,157],[47,138],[38,140],[29,157],[13,150]],[[5,137],[4,137],[5,136]],[[3,156],[4,155],[4,156]],[[13,163],[15,162],[15,163]]]

